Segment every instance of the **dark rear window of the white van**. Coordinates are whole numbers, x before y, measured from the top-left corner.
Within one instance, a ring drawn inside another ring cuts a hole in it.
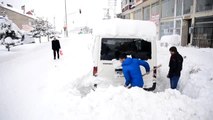
[[[143,39],[102,38],[101,60],[119,59],[121,53],[141,60],[151,59],[151,42]]]

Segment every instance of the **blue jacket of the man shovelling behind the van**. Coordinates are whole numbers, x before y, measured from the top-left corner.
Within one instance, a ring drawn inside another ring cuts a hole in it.
[[[140,65],[145,67],[146,72],[150,71],[149,64],[144,60],[126,58],[122,63],[123,74],[126,79],[125,85],[131,87],[143,87],[143,78],[140,70]]]

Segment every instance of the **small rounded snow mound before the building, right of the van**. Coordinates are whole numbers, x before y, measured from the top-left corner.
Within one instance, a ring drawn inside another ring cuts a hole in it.
[[[181,43],[181,37],[180,35],[164,35],[161,37],[161,46],[179,46]]]

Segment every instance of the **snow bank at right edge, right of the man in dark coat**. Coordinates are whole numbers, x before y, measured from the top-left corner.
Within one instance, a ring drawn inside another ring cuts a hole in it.
[[[185,56],[181,92],[192,98],[213,100],[213,91],[210,90],[213,88],[213,50],[183,48],[181,52]]]

